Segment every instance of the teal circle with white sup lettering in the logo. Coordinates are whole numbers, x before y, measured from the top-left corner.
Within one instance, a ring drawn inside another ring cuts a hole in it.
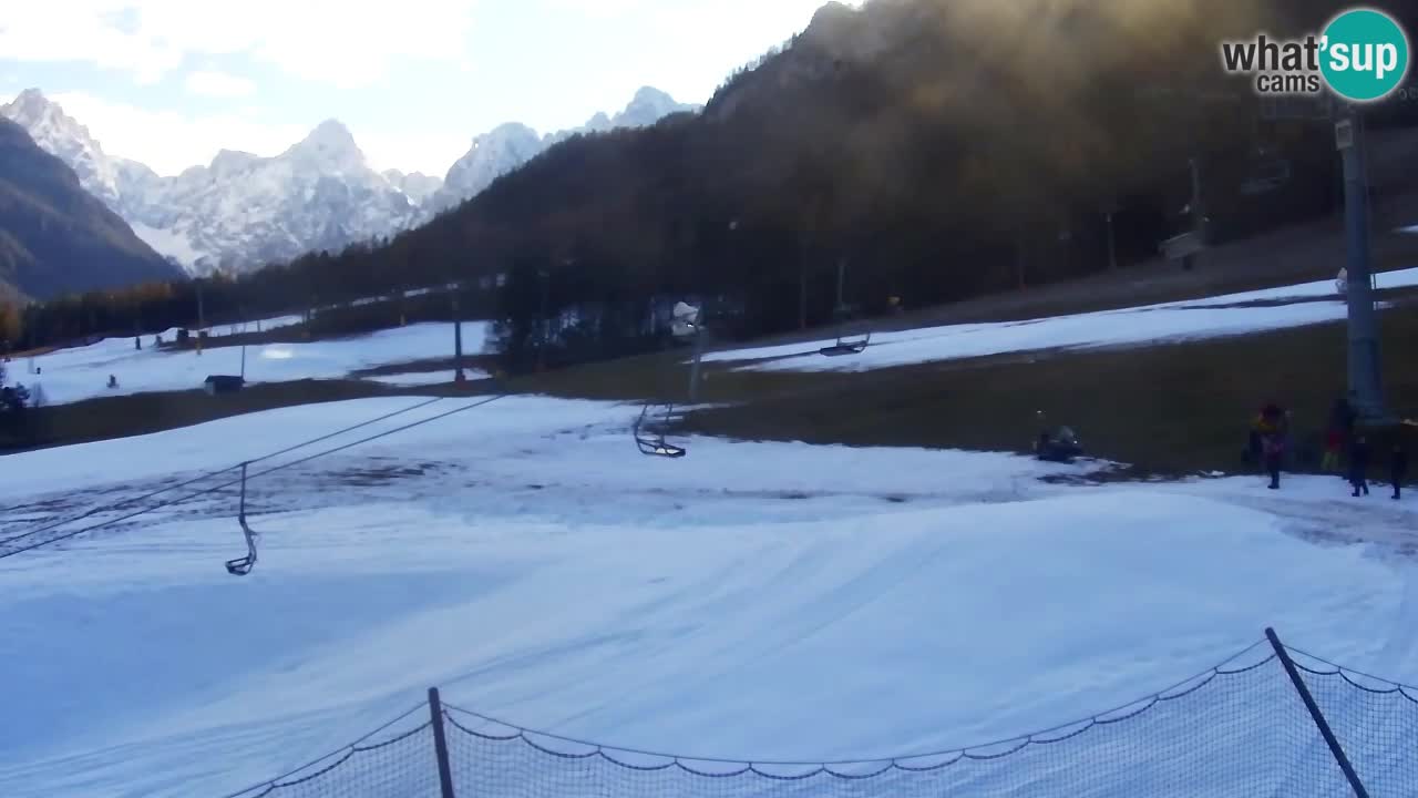
[[[1351,9],[1320,35],[1320,72],[1344,99],[1383,99],[1408,74],[1408,35],[1383,11]]]

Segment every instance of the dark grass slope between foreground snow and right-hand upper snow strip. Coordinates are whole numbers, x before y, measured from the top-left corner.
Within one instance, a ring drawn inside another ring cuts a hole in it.
[[[1385,392],[1418,416],[1418,305],[1380,315]],[[1035,413],[1068,423],[1095,456],[1140,474],[1236,471],[1246,425],[1276,400],[1295,413],[1297,467],[1317,464],[1344,390],[1346,325],[1092,352],[1029,352],[865,373],[727,371],[705,365],[681,433],[854,446],[1028,452]],[[580,366],[525,381],[563,396],[682,400],[683,352]],[[1412,443],[1409,440],[1409,443]],[[1305,457],[1313,450],[1313,461]]]

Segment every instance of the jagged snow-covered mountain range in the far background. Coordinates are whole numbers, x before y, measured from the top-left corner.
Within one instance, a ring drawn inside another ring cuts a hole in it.
[[[549,146],[577,133],[652,125],[698,106],[641,88],[614,116],[539,135],[501,125],[472,141],[444,177],[397,169],[376,172],[336,119],[318,125],[285,152],[262,158],[221,151],[207,166],[160,176],[136,160],[104,152],[94,135],[40,89],[0,106],[60,158],[91,195],[128,222],[153,250],[190,274],[242,271],[306,251],[339,250],[415,227],[486,189]]]

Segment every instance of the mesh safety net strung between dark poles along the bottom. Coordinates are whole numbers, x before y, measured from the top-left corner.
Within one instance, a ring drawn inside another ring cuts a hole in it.
[[[1300,652],[1289,657],[1368,795],[1418,794],[1418,690]],[[520,728],[448,703],[435,711],[445,740],[441,755],[435,728],[425,721],[384,731],[323,765],[238,797],[1354,795],[1282,657],[1266,642],[1167,690],[1076,723],[889,760],[695,758]],[[447,785],[441,785],[440,761],[447,763]]]

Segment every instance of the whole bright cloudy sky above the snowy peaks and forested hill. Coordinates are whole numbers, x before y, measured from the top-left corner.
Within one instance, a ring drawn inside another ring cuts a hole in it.
[[[577,126],[642,85],[703,102],[824,3],[7,0],[0,102],[40,88],[164,175],[336,118],[376,168],[442,176],[502,122]]]

